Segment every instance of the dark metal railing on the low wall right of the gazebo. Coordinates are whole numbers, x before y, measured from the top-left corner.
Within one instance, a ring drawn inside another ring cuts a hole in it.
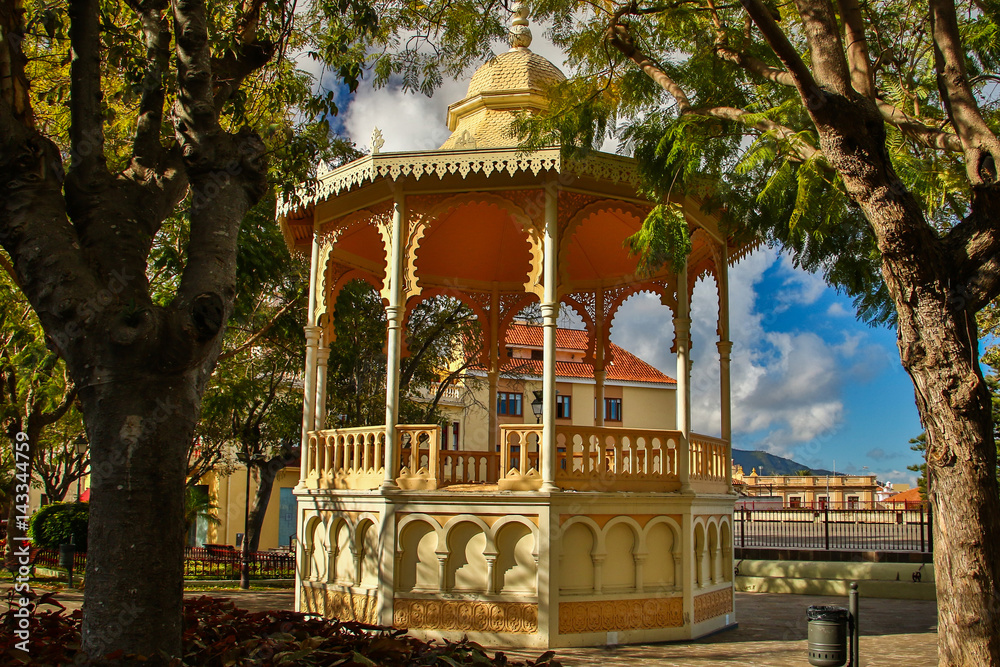
[[[737,548],[934,551],[930,507],[735,510]]]

